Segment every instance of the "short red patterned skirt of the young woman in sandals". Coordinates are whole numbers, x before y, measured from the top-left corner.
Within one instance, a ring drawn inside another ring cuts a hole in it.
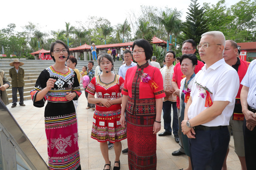
[[[120,115],[120,110],[109,113],[98,113],[95,110],[91,138],[98,142],[110,141],[111,143],[126,139],[126,128],[121,126]]]

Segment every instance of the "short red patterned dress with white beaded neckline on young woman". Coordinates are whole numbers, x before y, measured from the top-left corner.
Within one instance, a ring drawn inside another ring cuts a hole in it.
[[[100,80],[100,75],[93,77],[86,91],[97,98],[118,99],[121,97],[121,91],[124,87],[124,79],[115,75],[113,82],[106,84]],[[122,141],[126,139],[126,128],[120,123],[121,104],[113,104],[109,108],[97,103],[93,115],[93,128],[91,138],[98,142]]]

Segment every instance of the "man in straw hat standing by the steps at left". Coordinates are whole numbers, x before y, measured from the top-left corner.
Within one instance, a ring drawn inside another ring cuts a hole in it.
[[[15,58],[13,62],[10,63],[10,66],[14,66],[9,70],[9,75],[11,77],[11,90],[13,93],[13,105],[11,108],[16,107],[16,103],[18,101],[17,99],[17,90],[19,90],[19,95],[20,95],[20,106],[26,106],[23,98],[23,93],[24,93],[24,69],[20,68],[19,66],[23,66],[24,63],[20,62],[19,59]]]

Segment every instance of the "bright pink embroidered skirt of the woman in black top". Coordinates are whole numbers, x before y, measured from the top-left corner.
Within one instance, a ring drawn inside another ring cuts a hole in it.
[[[76,113],[45,117],[48,165],[51,170],[76,170],[80,166]]]

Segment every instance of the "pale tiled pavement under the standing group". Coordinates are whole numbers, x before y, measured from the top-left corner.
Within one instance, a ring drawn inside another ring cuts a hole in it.
[[[24,101],[25,107],[19,106],[11,108],[11,104],[7,106],[13,114],[23,131],[26,133],[37,151],[48,161],[47,144],[44,125],[44,110],[43,108],[36,108],[33,106],[32,100]],[[90,137],[93,110],[86,110],[87,100],[84,93],[79,98],[78,105],[78,143],[80,150],[82,170],[103,170],[104,159],[100,152],[99,143]],[[163,118],[162,118],[163,119]],[[162,127],[159,133],[163,132]],[[127,148],[127,140],[122,141],[122,149]],[[171,153],[178,150],[179,145],[174,141],[174,136],[159,137],[157,136],[157,170],[178,170],[186,168],[188,165],[187,156],[173,156]],[[109,150],[109,158],[112,162],[115,159],[114,149]],[[127,155],[121,154],[120,157],[121,170],[128,170]],[[228,154],[227,165],[229,170],[241,170],[239,159],[234,152],[233,136],[230,141],[230,151]]]

